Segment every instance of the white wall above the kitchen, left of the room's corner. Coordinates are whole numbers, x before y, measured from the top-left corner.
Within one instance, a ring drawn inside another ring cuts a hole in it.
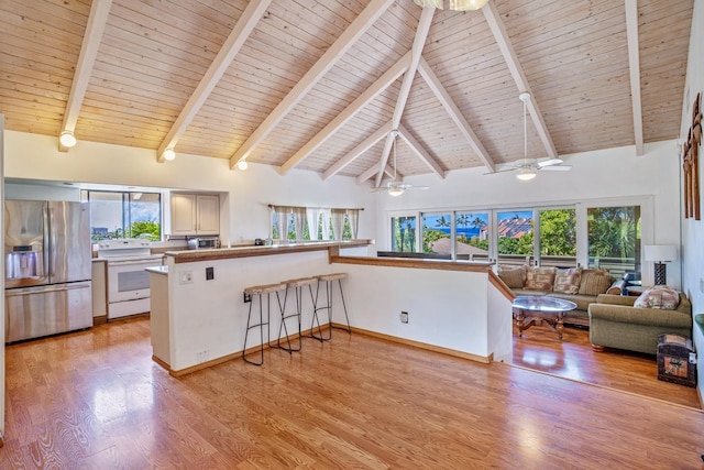
[[[268,204],[364,208],[359,237],[376,233],[375,195],[354,178],[323,182],[316,173],[297,170],[282,176],[270,165],[231,171],[228,160],[185,154],[157,163],[155,151],[82,141],[62,153],[56,138],[8,131],[6,177],[223,193],[224,243],[265,238]]]

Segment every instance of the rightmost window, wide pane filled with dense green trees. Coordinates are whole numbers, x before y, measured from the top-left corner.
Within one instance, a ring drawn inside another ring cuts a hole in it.
[[[640,271],[640,206],[592,207],[586,210],[588,266],[614,277]]]

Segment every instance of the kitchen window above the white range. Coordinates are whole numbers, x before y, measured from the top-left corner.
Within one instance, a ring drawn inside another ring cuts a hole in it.
[[[94,241],[117,238],[162,239],[162,195],[86,190],[90,207],[90,238]]]

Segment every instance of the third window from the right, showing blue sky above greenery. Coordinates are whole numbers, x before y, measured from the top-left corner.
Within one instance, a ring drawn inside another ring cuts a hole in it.
[[[496,214],[498,261],[525,264],[534,255],[532,210],[501,211]]]

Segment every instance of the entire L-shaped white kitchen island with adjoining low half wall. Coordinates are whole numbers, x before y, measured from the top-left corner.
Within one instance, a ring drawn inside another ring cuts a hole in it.
[[[480,362],[510,351],[510,292],[488,263],[381,259],[370,240],[165,254],[164,269],[150,270],[152,342],[154,360],[172,375],[241,357],[250,308],[245,287],[333,272],[349,273],[344,289],[353,330]],[[304,332],[312,323],[309,297],[304,295]],[[332,321],[343,324],[338,302]],[[274,297],[272,339],[277,308]],[[286,309],[294,308],[289,295]],[[399,320],[402,311],[408,323]],[[297,353],[305,349],[306,341]]]

